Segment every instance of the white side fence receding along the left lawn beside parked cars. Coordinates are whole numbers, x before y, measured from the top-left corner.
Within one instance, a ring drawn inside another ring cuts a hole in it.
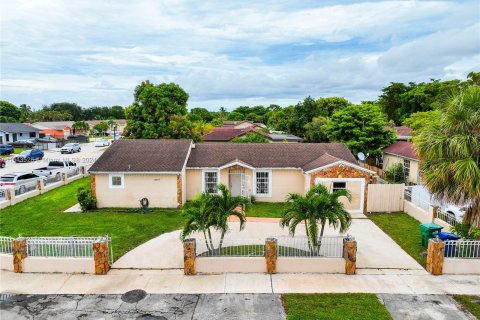
[[[12,206],[23,200],[35,197],[65,184],[69,184],[70,182],[86,177],[87,175],[87,168],[81,166],[68,172],[57,173],[56,175],[46,177],[46,179],[39,178],[36,181],[26,184],[17,185],[7,189],[0,189],[0,209]]]

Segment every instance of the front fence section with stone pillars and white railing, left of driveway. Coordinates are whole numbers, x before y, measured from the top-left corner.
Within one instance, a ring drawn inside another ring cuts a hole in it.
[[[112,240],[102,237],[0,236],[2,270],[106,274],[113,263]]]

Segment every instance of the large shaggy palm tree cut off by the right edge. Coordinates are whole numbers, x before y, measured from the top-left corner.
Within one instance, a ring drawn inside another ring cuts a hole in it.
[[[432,195],[466,206],[464,222],[480,227],[480,87],[446,99],[439,121],[427,124],[414,145]]]

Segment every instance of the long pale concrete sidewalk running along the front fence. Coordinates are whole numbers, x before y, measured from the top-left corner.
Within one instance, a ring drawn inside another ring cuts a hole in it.
[[[216,274],[112,270],[108,275],[0,272],[0,292],[15,294],[327,293],[480,294],[480,276],[415,274]]]

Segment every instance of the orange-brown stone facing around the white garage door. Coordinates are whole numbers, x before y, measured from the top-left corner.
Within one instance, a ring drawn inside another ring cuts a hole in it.
[[[346,165],[338,165],[310,174],[310,187],[315,184],[317,178],[363,178],[365,179],[365,190],[363,195],[363,212],[367,210],[368,185],[376,182],[373,174]],[[353,187],[353,186],[352,186]],[[348,209],[348,208],[347,208]]]

